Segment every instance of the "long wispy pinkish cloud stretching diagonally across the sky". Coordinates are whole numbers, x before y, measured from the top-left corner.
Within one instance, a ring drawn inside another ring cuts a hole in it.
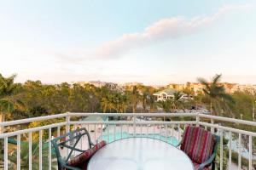
[[[232,11],[249,11],[253,7],[252,4],[226,5],[223,8],[219,8],[215,14],[208,16],[197,16],[192,19],[179,16],[161,19],[145,28],[142,32],[125,33],[123,36],[117,37],[113,41],[102,44],[102,46],[96,48],[91,53],[77,54],[77,57],[73,56],[73,58],[76,58],[74,59],[75,61],[84,58],[119,58],[132,49],[147,47],[154,43],[184,37],[201,31],[223,18],[226,14],[230,14]],[[68,58],[67,55],[62,55],[62,57],[64,57],[64,59]]]

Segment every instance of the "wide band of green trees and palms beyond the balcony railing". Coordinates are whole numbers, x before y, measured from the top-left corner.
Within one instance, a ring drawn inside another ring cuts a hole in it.
[[[21,84],[15,83],[15,77],[15,75],[3,77],[0,74],[0,122],[53,115],[67,111],[124,114],[127,112],[149,113],[162,111],[168,113],[191,111],[191,108],[197,109],[198,106],[204,106],[212,115],[252,120],[252,113],[256,105],[255,93],[236,91],[233,94],[227,94],[220,82],[221,75],[212,77],[210,82],[204,78],[198,78],[198,82],[204,86],[202,92],[195,93],[193,88],[190,87],[190,82],[188,82],[186,88],[177,91],[172,99],[166,99],[165,101],[156,101],[153,94],[160,89],[151,86],[137,85],[113,89],[108,86],[97,88],[89,83],[43,84],[40,81],[31,80]],[[183,99],[183,94],[186,94],[188,98]],[[27,126],[38,127],[60,121],[32,122]],[[230,126],[256,132],[256,129],[252,127],[239,124]],[[0,133],[3,133],[3,129],[0,129]],[[53,133],[55,132],[53,131]],[[47,132],[44,133],[44,136],[45,138],[48,137]],[[38,134],[35,133],[33,138],[37,139]],[[0,145],[1,142],[3,141],[0,141]],[[253,143],[256,145],[255,140],[253,140]],[[24,149],[21,150],[21,153],[26,152],[26,144],[23,145]],[[37,144],[33,144],[33,148],[37,150]],[[15,162],[15,153],[13,154],[10,159]],[[24,165],[26,165],[26,161],[27,158],[24,156],[24,160],[22,160],[22,162],[25,162]]]

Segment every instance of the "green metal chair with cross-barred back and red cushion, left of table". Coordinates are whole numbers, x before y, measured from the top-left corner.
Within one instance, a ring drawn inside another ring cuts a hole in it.
[[[78,147],[79,141],[82,142],[82,137],[87,136],[89,150],[81,150]],[[98,144],[93,144],[90,140],[90,134],[86,128],[79,128],[70,133],[66,133],[60,137],[51,140],[55,148],[55,153],[58,161],[58,170],[86,170],[87,163],[90,157],[96,153],[97,150],[106,145],[105,141],[101,141]],[[67,156],[61,156],[61,148],[68,150]],[[73,156],[74,151],[80,152],[78,156]]]

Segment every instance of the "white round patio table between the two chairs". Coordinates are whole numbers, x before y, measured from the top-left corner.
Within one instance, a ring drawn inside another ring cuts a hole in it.
[[[158,139],[129,138],[107,144],[91,157],[88,170],[193,170],[182,150]]]

